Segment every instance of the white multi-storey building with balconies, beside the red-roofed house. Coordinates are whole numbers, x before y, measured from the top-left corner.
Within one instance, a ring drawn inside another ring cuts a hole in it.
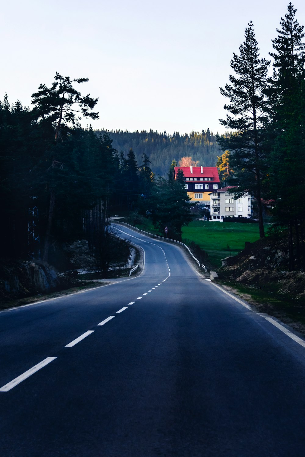
[[[246,193],[235,199],[232,187],[223,187],[210,194],[210,221],[224,218],[251,218],[251,196]]]

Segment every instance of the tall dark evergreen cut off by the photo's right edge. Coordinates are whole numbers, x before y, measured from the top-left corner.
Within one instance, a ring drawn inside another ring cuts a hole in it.
[[[305,265],[305,175],[301,166],[305,162],[305,33],[295,18],[296,11],[290,2],[277,29],[278,36],[272,40],[274,72],[268,92],[272,107],[270,197],[276,201],[277,222],[288,227],[291,270],[300,268],[300,245]],[[296,265],[293,239],[297,244]]]

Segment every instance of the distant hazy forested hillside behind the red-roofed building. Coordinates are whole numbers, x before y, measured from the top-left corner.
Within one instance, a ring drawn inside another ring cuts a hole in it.
[[[210,129],[201,132],[181,134],[174,132],[170,135],[164,131],[159,133],[153,130],[128,132],[122,130],[97,130],[98,135],[107,133],[113,140],[113,147],[127,154],[132,148],[136,160],[140,164],[142,155],[146,154],[153,163],[156,175],[165,177],[173,159],[179,160],[184,156],[191,156],[195,162],[203,166],[215,166],[220,148],[216,135]],[[217,134],[218,135],[218,134]],[[226,137],[229,133],[222,135]],[[222,138],[221,136],[221,138]]]

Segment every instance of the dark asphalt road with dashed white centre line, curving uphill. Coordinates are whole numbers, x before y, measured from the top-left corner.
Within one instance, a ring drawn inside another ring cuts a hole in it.
[[[0,313],[0,456],[304,457],[304,341],[121,230],[140,276]]]

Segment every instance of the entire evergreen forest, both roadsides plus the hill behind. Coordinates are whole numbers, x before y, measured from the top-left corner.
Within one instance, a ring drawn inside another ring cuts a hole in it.
[[[86,239],[106,272],[110,258],[128,251],[113,238],[107,219],[135,210],[150,217],[160,233],[170,224],[168,236],[181,239],[181,227],[192,216],[183,176],[176,182],[172,177],[174,165],[188,156],[199,165],[217,161],[223,184],[240,194],[251,192],[261,238],[263,202],[272,202],[273,233],[287,234],[289,268],[304,267],[305,34],[291,3],[275,33],[272,64],[259,56],[251,21],[233,53],[230,82],[221,88],[228,99],[221,120],[225,135],[209,128],[172,135],[82,128],[81,118],[89,123],[99,117],[98,99],[79,90],[87,78],[56,73],[52,85],[41,84],[32,94],[31,108],[5,94],[1,257],[58,266],[56,252],[63,243]]]

